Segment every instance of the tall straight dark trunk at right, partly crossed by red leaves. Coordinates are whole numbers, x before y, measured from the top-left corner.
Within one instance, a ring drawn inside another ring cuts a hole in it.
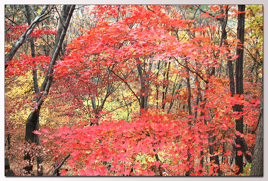
[[[245,5],[238,5],[238,11],[245,11]],[[237,38],[240,40],[240,44],[238,45],[238,49],[236,50],[236,55],[239,57],[236,59],[236,94],[244,94],[243,89],[243,54],[244,54],[244,32],[245,32],[245,13],[238,14],[238,25],[237,25]],[[235,105],[234,111],[242,112],[243,105]],[[239,120],[235,120],[236,122],[236,131],[239,131],[243,134],[243,116]],[[240,136],[236,136],[235,143],[240,145],[240,147],[236,147],[235,153],[235,164],[239,167],[239,171],[237,174],[243,172],[243,154],[238,155],[237,152],[241,151],[243,148],[243,140]]]

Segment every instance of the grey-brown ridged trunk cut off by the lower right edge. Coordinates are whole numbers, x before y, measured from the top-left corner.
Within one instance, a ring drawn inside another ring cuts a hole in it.
[[[259,121],[250,176],[263,176],[263,86],[261,90]]]

